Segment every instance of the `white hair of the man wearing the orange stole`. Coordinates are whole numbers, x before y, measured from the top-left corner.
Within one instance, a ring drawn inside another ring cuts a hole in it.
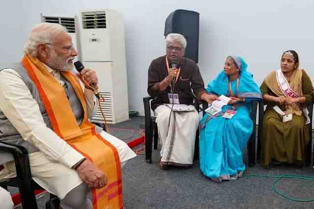
[[[52,44],[54,38],[61,32],[67,32],[67,29],[57,23],[39,23],[30,31],[29,37],[24,45],[24,53],[37,56],[37,46],[39,44]]]

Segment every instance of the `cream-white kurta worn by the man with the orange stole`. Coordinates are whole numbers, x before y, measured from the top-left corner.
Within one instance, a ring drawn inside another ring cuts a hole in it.
[[[49,71],[53,72],[54,76],[58,75],[57,71]],[[58,76],[55,78],[59,81]],[[91,113],[91,107],[94,108],[94,95],[91,91],[85,91],[84,95],[88,113]],[[15,70],[0,71],[0,109],[23,139],[40,150],[29,154],[33,180],[63,199],[71,189],[82,182],[78,173],[71,167],[83,156],[46,126],[38,103]],[[124,141],[104,131],[101,135],[117,148],[121,163],[136,156]],[[0,173],[0,179],[15,175],[14,162],[7,163]]]

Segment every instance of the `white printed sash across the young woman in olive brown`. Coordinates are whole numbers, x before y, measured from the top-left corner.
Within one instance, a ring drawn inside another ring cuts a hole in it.
[[[283,74],[281,69],[278,69],[276,71],[276,75],[277,75],[276,76],[277,77],[277,82],[279,84],[279,87],[280,87],[281,91],[288,97],[298,98],[299,95],[297,93],[295,93],[291,89],[291,87],[290,87],[290,85],[289,85],[289,83],[288,83],[288,81],[287,81],[286,77],[284,76],[284,74]],[[307,108],[303,108],[302,111],[303,111],[304,115],[306,116],[306,123],[305,124],[306,125],[310,124],[310,117],[309,117],[308,109]]]

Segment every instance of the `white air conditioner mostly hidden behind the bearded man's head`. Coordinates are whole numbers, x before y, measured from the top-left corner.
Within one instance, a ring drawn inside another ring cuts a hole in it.
[[[70,34],[73,42],[74,48],[79,50],[79,42],[78,42],[78,17],[58,17],[58,16],[44,16],[42,13],[40,14],[42,23],[58,23],[67,28],[68,33]],[[80,53],[78,53],[78,57],[75,61],[80,59]]]

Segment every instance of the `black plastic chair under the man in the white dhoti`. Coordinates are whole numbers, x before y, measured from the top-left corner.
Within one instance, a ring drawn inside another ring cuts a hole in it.
[[[156,123],[156,117],[151,115],[151,104],[154,101],[153,97],[147,96],[143,98],[144,113],[145,113],[145,161],[146,163],[152,163],[152,152],[153,152],[153,138],[154,138],[154,149],[157,149],[158,145],[158,128]],[[199,102],[194,99],[194,106],[197,112],[201,110]],[[199,156],[199,130],[196,132],[195,137],[195,149],[194,149],[194,160],[198,159]]]

